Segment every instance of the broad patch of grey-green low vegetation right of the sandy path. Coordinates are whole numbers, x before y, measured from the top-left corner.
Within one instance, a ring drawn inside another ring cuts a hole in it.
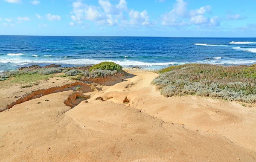
[[[198,95],[230,101],[256,102],[256,66],[223,67],[185,64],[160,70],[152,84],[161,94]]]

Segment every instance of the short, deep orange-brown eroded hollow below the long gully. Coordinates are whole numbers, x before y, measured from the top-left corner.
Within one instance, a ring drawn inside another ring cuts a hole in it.
[[[90,95],[84,95],[82,93],[79,92],[75,92],[72,93],[66,101],[64,101],[64,104],[66,104],[67,106],[73,108],[75,106],[77,106],[78,104],[80,104],[81,101],[87,100],[90,98]]]

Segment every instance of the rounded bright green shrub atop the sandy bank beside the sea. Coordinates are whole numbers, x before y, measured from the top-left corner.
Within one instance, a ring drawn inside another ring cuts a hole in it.
[[[102,62],[96,65],[93,65],[89,71],[92,71],[93,69],[102,69],[102,70],[116,70],[120,72],[122,70],[122,66],[115,64],[113,62]]]

